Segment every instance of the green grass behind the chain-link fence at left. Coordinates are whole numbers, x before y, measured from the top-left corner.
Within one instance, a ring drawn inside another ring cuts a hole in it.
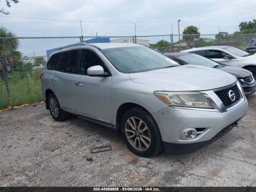
[[[20,75],[18,72],[8,74],[8,86],[13,106],[31,104],[42,101],[42,90],[39,75],[42,69],[35,69],[31,73]],[[5,82],[0,80],[0,109],[10,106]]]

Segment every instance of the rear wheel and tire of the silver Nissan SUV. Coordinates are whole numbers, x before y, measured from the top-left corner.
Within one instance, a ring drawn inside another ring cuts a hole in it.
[[[62,108],[60,108],[60,104],[55,94],[49,94],[48,103],[50,114],[52,115],[52,118],[54,118],[54,120],[63,121],[68,118],[68,114],[64,110],[62,110]]]

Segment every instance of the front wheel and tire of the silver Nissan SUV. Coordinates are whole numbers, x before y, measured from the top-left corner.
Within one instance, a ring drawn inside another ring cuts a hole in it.
[[[140,108],[125,112],[121,120],[121,133],[128,148],[138,156],[152,157],[164,149],[156,122],[150,114]]]

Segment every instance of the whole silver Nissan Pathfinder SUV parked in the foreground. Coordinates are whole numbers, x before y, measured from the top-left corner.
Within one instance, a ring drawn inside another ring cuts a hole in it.
[[[231,130],[248,110],[236,77],[181,66],[146,46],[78,43],[51,54],[42,74],[46,108],[120,130],[132,152],[193,152]]]

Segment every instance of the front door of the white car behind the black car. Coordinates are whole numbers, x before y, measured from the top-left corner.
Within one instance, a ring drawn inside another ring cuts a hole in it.
[[[237,59],[224,59],[225,55],[229,55],[226,52],[223,52],[221,50],[214,50],[214,49],[209,49],[207,50],[207,57],[209,59],[212,59],[214,61],[230,65],[230,66],[236,66],[238,65]],[[233,56],[232,56],[233,57]]]

